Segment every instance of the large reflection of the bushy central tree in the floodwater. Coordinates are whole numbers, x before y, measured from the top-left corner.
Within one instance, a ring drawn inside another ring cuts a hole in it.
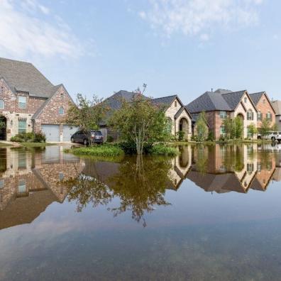
[[[165,188],[169,182],[171,164],[162,158],[142,158],[124,162],[117,175],[111,177],[114,195],[120,198],[120,206],[111,209],[114,216],[131,210],[136,221],[145,219],[145,211],[153,211],[154,205],[167,206],[164,199]]]

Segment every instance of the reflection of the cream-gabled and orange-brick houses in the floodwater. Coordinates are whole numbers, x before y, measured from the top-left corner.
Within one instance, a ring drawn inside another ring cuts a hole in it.
[[[200,150],[201,149],[201,150]],[[187,178],[206,192],[265,190],[275,172],[275,158],[257,155],[256,145],[194,148]]]

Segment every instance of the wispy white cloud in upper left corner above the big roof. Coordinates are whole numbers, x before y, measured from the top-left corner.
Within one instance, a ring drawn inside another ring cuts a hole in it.
[[[84,53],[71,29],[36,0],[0,0],[0,18],[1,55],[79,57]]]

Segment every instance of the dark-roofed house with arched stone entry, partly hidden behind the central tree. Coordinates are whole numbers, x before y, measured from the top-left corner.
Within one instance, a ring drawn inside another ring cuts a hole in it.
[[[116,94],[113,94],[111,97],[106,99],[104,103],[109,107],[109,112],[118,110],[121,108],[121,100],[125,99],[126,101],[133,100],[136,93],[119,91]],[[148,97],[146,97],[149,99]],[[153,104],[163,105],[165,110],[165,116],[170,122],[170,130],[173,136],[177,135],[178,131],[184,131],[184,138],[190,139],[192,136],[192,117],[185,108],[184,104],[177,95],[160,97],[157,99],[151,99]],[[110,115],[110,114],[109,114]],[[109,116],[107,116],[104,121],[101,122],[101,129],[104,130],[104,134],[107,136],[112,136],[116,139],[117,133],[114,132],[108,125]]]

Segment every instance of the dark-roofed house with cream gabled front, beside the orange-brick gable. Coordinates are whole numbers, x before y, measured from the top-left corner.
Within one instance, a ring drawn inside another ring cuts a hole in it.
[[[225,135],[224,119],[240,116],[243,120],[243,137],[249,136],[248,126],[257,126],[258,111],[246,90],[232,92],[226,89],[217,89],[214,92],[205,92],[191,103],[187,110],[192,116],[205,111],[209,131],[214,133],[214,138],[219,139]]]

